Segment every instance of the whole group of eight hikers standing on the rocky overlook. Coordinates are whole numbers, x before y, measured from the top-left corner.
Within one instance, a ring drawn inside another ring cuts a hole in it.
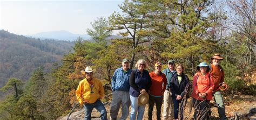
[[[192,106],[194,108],[192,119],[210,119],[210,101],[213,99],[218,104],[220,119],[227,119],[220,87],[224,86],[224,70],[219,65],[220,54],[211,57],[210,65],[201,62],[196,68],[197,73],[193,76],[191,83],[184,73],[181,63],[175,65],[174,60],[167,62],[168,68],[161,72],[163,63],[156,62],[154,71],[149,73],[146,69],[147,62],[140,59],[136,63],[136,69],[130,69],[130,62],[123,59],[122,67],[115,70],[112,81],[112,101],[110,108],[110,119],[117,119],[122,106],[120,119],[143,119],[146,104],[149,103],[148,118],[152,119],[154,103],[156,103],[157,119],[161,119],[161,105],[164,103],[163,119],[183,119],[184,108],[187,98],[190,97],[189,89],[192,91]],[[90,66],[82,70],[86,77],[79,82],[76,96],[85,110],[85,119],[91,119],[92,109],[100,112],[101,119],[107,119],[107,111],[100,101],[104,96],[104,88],[100,80],[93,77],[95,73]]]

